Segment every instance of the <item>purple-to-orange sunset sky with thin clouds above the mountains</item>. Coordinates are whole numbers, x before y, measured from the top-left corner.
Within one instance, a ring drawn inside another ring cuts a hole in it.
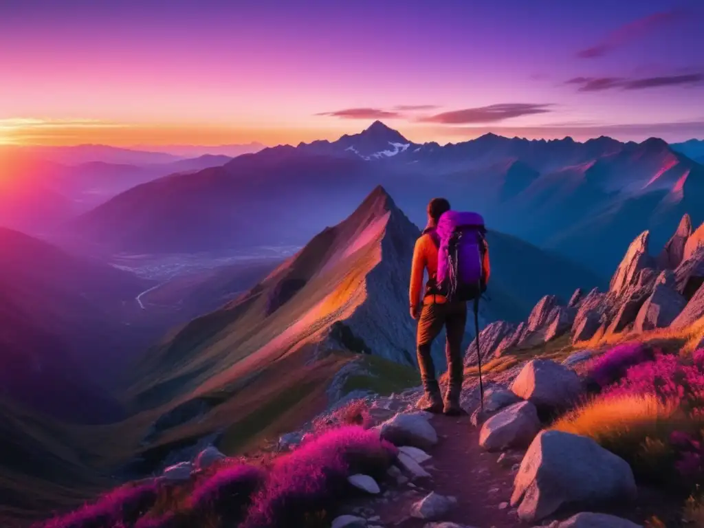
[[[1,0],[0,144],[702,138],[703,4]]]

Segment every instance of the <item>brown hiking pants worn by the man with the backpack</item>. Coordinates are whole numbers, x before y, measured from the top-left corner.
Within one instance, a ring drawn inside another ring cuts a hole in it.
[[[467,324],[467,303],[429,303],[423,305],[418,320],[417,354],[420,379],[424,385],[435,381],[435,366],[430,355],[433,341],[446,330],[445,355],[451,384],[462,384],[462,338]]]

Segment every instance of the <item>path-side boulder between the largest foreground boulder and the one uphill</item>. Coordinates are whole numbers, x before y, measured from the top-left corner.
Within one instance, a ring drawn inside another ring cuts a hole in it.
[[[528,446],[540,428],[538,411],[532,403],[514,403],[486,420],[479,432],[479,446],[487,451]]]

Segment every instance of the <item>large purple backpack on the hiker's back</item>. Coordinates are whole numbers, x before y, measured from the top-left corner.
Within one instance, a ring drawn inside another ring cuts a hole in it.
[[[451,301],[472,301],[486,290],[484,218],[448,210],[431,235],[438,246],[436,287]]]

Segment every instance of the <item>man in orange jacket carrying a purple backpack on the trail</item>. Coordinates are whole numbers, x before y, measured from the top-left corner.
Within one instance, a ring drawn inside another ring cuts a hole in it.
[[[478,337],[477,310],[489,280],[489,246],[484,238],[484,220],[476,213],[452,211],[444,198],[432,199],[427,213],[427,227],[415,243],[410,274],[410,315],[418,321],[418,367],[425,389],[418,406],[430,413],[456,416],[463,414],[460,393],[467,301],[474,300]],[[421,298],[425,270],[428,281]],[[450,381],[444,401],[430,353],[432,342],[443,327]]]

